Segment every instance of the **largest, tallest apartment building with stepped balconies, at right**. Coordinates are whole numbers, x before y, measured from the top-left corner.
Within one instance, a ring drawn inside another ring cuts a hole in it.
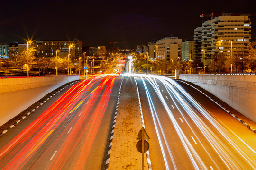
[[[205,65],[211,62],[214,53],[223,52],[225,55],[236,48],[246,54],[247,44],[251,39],[251,22],[248,16],[219,16],[205,21],[201,27],[194,30],[194,58],[203,62],[205,51]],[[218,42],[221,42],[218,44]]]

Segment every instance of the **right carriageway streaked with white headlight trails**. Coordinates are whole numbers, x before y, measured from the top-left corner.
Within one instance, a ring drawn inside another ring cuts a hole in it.
[[[138,85],[154,170],[256,169],[255,150],[181,85],[164,76],[130,73],[125,75]]]

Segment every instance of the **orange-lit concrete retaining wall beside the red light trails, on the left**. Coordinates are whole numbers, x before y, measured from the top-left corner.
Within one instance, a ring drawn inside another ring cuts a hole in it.
[[[78,75],[1,77],[0,126],[26,110],[47,93],[78,79]]]

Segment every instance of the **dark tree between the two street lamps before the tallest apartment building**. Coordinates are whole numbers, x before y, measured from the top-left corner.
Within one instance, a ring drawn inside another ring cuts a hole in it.
[[[213,54],[211,63],[208,65],[210,73],[226,73],[225,55],[223,53]]]

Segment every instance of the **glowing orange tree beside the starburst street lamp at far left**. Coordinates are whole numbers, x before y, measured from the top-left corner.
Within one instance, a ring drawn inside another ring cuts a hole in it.
[[[22,72],[23,68],[27,69],[27,76],[29,76],[28,71],[33,68],[33,65],[36,63],[35,61],[35,51],[36,47],[28,47],[27,50],[24,49],[21,54],[18,56],[22,61]]]

